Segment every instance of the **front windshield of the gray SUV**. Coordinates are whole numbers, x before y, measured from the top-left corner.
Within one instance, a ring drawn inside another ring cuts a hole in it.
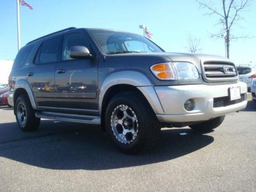
[[[106,54],[163,52],[160,47],[141,35],[100,29],[90,31],[102,52]]]

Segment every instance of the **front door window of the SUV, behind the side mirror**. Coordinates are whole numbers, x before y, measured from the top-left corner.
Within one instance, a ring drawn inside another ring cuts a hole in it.
[[[90,44],[82,33],[66,34],[63,38],[61,60],[66,61],[73,58],[69,57],[70,47],[85,46],[90,51]]]

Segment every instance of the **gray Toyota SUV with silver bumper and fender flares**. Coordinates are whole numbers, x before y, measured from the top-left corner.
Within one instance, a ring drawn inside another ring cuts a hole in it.
[[[242,110],[247,86],[226,58],[167,53],[149,39],[68,28],[18,53],[9,103],[23,131],[41,118],[101,125],[124,153],[156,146],[161,127],[218,127]]]

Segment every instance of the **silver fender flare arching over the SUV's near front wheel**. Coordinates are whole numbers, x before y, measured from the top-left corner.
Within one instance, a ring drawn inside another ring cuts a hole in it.
[[[153,108],[156,114],[162,114],[163,108],[161,102],[157,97],[153,84],[149,81],[149,79],[139,73],[138,71],[118,71],[110,74],[108,77],[104,79],[102,82],[100,93],[99,93],[99,113],[101,114],[102,110],[102,101],[104,95],[108,91],[111,86],[118,84],[126,84],[132,85],[138,88],[148,100],[149,104]]]

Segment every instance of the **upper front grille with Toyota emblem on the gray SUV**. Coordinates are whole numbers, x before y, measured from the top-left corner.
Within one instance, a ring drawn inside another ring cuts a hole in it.
[[[203,77],[207,82],[236,81],[238,75],[234,63],[223,61],[205,61]]]

